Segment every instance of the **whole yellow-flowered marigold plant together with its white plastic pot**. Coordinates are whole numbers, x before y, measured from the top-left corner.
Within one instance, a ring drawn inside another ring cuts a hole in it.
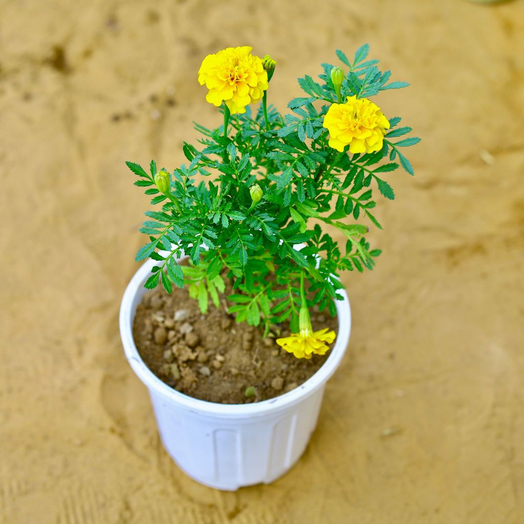
[[[196,124],[199,144],[183,144],[188,163],[174,170],[127,162],[154,209],[122,340],[167,451],[203,484],[237,489],[285,473],[346,350],[340,272],[373,268],[380,252],[363,235],[381,228],[374,191],[394,198],[385,177],[413,174],[401,149],[419,141],[399,139],[411,128],[370,101],[407,84],[367,54],[336,51],[341,67],[300,78],[286,116],[267,102],[274,60],[251,47],[211,54],[198,81],[222,125]]]

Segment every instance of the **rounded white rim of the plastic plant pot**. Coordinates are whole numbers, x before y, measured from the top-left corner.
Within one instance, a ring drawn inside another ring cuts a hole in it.
[[[180,259],[187,258],[181,257]],[[166,397],[171,402],[177,403],[190,411],[198,414],[209,414],[215,417],[225,418],[247,418],[253,416],[267,415],[272,412],[286,409],[302,398],[311,395],[314,391],[322,387],[333,375],[339,366],[346,351],[351,332],[351,308],[350,301],[344,289],[339,290],[343,300],[335,301],[337,317],[339,319],[339,330],[335,340],[335,345],[330,350],[330,355],[318,369],[318,371],[306,380],[303,384],[287,393],[268,400],[252,402],[249,404],[221,404],[200,400],[189,395],[185,395],[171,386],[163,383],[145,364],[140,357],[133,339],[133,320],[135,318],[136,305],[135,297],[140,293],[140,297],[147,291],[144,283],[150,276],[151,268],[159,265],[156,260],[147,260],[135,273],[130,280],[122,298],[119,315],[120,334],[122,344],[129,365],[133,368],[138,378],[149,388],[158,394]]]

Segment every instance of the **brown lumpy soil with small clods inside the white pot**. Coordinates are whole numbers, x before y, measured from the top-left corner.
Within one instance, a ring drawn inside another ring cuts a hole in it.
[[[336,318],[318,310],[312,311],[312,322],[337,328]],[[224,307],[210,304],[201,314],[185,289],[169,295],[157,288],[138,305],[133,336],[149,369],[169,386],[201,400],[243,404],[300,386],[329,356],[294,357],[275,342],[289,334],[289,323],[279,329],[264,338],[262,329],[237,324]],[[251,387],[255,394],[246,396]]]

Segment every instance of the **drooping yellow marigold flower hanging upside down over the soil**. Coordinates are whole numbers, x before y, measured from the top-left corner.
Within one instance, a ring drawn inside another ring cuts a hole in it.
[[[329,350],[328,344],[335,340],[335,332],[329,328],[313,331],[308,308],[305,303],[300,308],[300,333],[277,339],[277,344],[297,358],[311,358],[313,353],[324,355]]]

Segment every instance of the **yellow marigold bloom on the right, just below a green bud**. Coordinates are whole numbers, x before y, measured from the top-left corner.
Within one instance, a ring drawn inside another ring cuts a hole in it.
[[[324,116],[324,127],[330,133],[329,145],[351,153],[370,153],[382,148],[389,121],[373,102],[348,96],[345,104],[332,104]]]

